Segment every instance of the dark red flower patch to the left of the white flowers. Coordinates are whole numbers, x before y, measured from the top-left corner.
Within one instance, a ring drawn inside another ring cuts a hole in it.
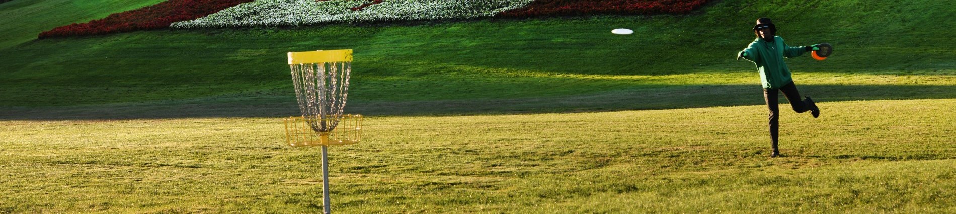
[[[252,0],[168,0],[133,11],[113,13],[83,24],[57,27],[48,32],[40,32],[37,37],[42,39],[163,29],[173,22],[197,19],[250,1]]]

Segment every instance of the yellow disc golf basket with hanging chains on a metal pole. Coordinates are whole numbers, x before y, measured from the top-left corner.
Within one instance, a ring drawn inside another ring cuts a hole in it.
[[[329,145],[358,143],[360,115],[342,115],[352,72],[352,50],[289,53],[295,98],[302,117],[285,119],[292,146],[322,147],[322,206],[332,211],[329,197]]]

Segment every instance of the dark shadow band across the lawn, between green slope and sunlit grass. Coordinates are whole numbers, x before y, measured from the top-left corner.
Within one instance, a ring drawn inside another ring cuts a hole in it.
[[[798,85],[817,102],[956,98],[956,85]],[[786,98],[780,95],[781,104]],[[366,116],[501,115],[608,112],[763,105],[758,85],[642,87],[586,95],[429,101],[349,100],[346,114]],[[784,106],[786,107],[786,106]],[[782,108],[784,108],[782,107]],[[0,120],[135,118],[283,118],[300,115],[293,96],[238,94],[223,98],[83,106],[3,106]]]

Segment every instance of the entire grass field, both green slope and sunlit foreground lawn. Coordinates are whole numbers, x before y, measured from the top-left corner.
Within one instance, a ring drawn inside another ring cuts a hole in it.
[[[369,117],[331,149],[338,213],[956,212],[947,1],[32,40],[159,1],[84,2],[0,4],[0,213],[317,212],[318,150],[284,145],[285,53],[333,49],[355,50],[346,112]],[[781,103],[776,159],[733,60],[760,16],[836,46],[788,59],[823,113]]]

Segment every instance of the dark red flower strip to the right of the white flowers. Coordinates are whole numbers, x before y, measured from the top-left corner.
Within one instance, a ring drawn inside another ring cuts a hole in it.
[[[504,11],[503,16],[529,17],[583,14],[686,13],[708,0],[536,0],[527,7]]]

